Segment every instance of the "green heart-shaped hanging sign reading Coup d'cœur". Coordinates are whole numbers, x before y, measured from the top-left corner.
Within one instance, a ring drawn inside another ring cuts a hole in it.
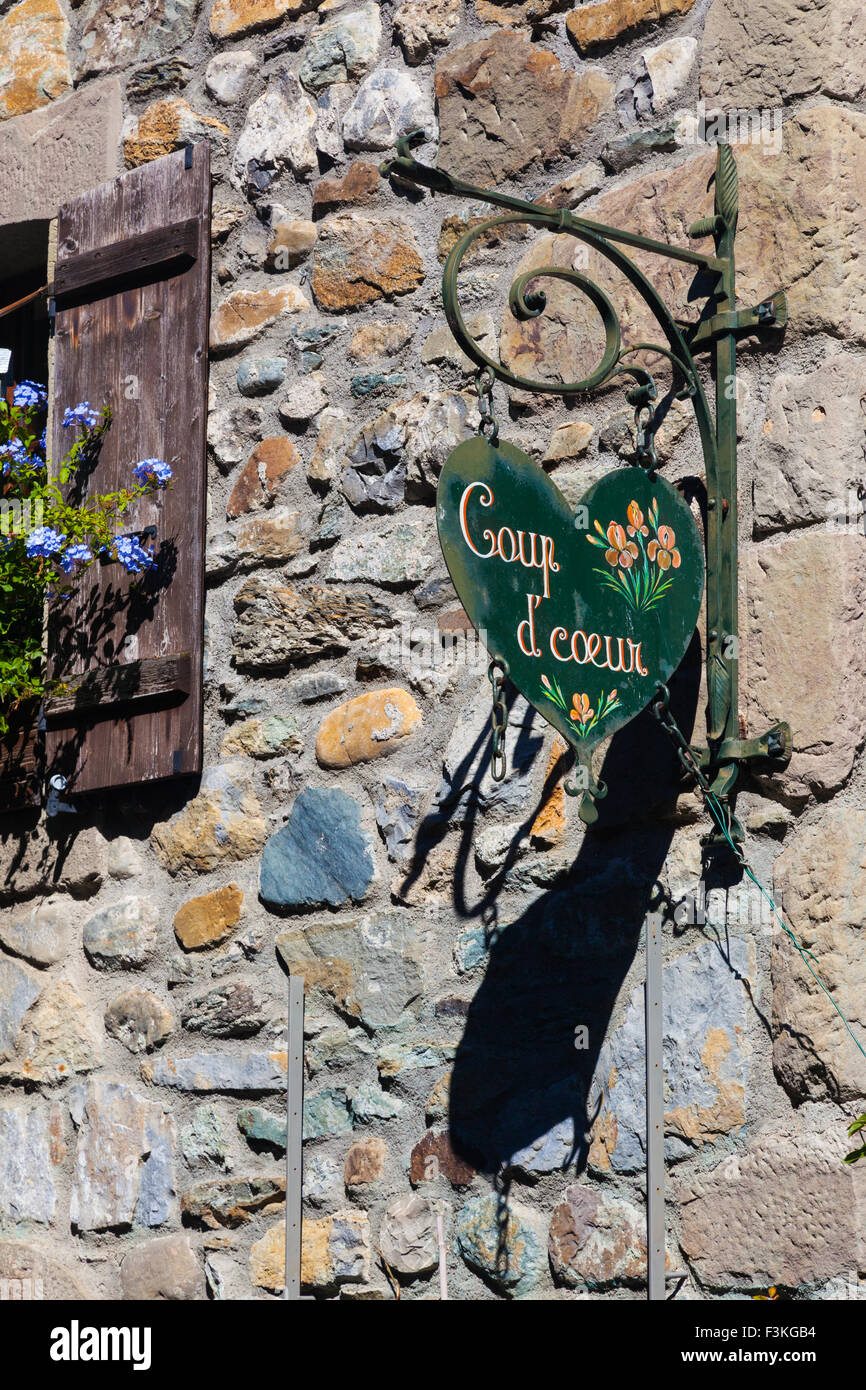
[[[467,439],[436,493],[439,543],[491,656],[585,764],[691,641],[703,549],[688,505],[642,468],[577,507],[510,443]]]

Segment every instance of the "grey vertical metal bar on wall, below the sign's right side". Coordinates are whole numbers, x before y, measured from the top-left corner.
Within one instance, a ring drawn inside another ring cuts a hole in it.
[[[662,913],[646,917],[646,1297],[664,1298],[664,1062]]]

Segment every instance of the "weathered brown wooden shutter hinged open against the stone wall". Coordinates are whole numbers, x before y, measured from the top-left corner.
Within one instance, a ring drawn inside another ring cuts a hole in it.
[[[47,774],[68,792],[202,769],[202,644],[210,307],[210,150],[156,160],[60,210],[54,271],[51,457],[74,438],[67,406],[110,403],[86,491],[114,492],[140,459],[174,484],[118,534],[156,528],[158,566],[135,587],[93,564],[60,627],[46,702]]]

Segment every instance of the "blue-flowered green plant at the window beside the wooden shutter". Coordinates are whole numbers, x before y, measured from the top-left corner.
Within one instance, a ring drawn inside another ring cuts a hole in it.
[[[0,400],[0,734],[8,712],[47,691],[43,626],[70,600],[82,574],[97,562],[117,562],[140,575],[154,557],[135,535],[117,535],[129,509],[171,481],[171,467],[145,459],[132,482],[117,492],[79,495],[111,410],[88,400],[70,407],[63,428],[74,431],[57,466],[46,456],[47,392],[19,382],[13,403]]]

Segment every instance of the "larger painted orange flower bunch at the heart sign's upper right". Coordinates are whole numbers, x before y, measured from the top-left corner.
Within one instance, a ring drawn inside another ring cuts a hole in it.
[[[649,525],[646,525],[649,521]],[[652,527],[653,537],[645,538]],[[659,521],[659,505],[652,500],[646,520],[637,502],[627,507],[627,523],[609,521],[607,530],[595,523],[598,535],[588,535],[589,545],[598,545],[605,552],[610,570],[595,570],[603,584],[616,589],[628,606],[637,612],[652,609],[662,600],[673,584],[670,570],[680,569],[677,538],[669,525]]]

